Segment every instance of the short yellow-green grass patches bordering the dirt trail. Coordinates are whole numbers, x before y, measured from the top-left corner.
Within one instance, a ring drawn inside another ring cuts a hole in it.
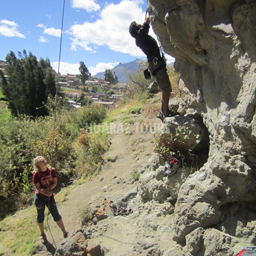
[[[153,111],[159,107],[160,98],[148,99],[146,101],[142,101],[141,99],[129,99],[126,102],[119,102],[117,108],[113,108],[108,112],[108,116],[104,124],[108,125],[121,118],[121,115],[129,115],[134,111],[143,111],[143,115],[152,115]],[[134,115],[132,118],[134,118]],[[128,118],[124,119],[124,121],[128,121]],[[98,127],[95,129],[97,128]],[[101,128],[101,131],[102,130],[104,132],[104,128]],[[137,143],[138,141],[131,141],[131,146],[136,148]],[[112,162],[114,159],[114,157],[108,157],[106,160]],[[95,175],[97,174],[94,173],[92,175],[82,176],[81,179],[76,181],[73,185],[65,189],[61,189],[61,191],[55,196],[57,203],[59,204],[64,202],[72,188],[87,182]],[[138,180],[139,176],[140,174],[135,170],[132,177],[135,180]],[[81,209],[82,219],[89,219],[89,215],[88,209]],[[0,221],[0,251],[3,255],[30,255],[35,249],[37,249],[39,236],[40,231],[36,223],[36,209],[34,206],[27,207],[26,209],[17,212],[15,217],[7,216],[5,219]]]

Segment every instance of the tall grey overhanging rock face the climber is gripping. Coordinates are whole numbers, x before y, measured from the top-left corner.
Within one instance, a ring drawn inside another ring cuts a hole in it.
[[[207,162],[178,193],[175,240],[186,255],[212,255],[212,244],[223,255],[243,239],[256,245],[256,2],[148,0],[148,13],[181,73],[178,111],[200,115],[209,132]],[[142,190],[144,200],[164,200]]]

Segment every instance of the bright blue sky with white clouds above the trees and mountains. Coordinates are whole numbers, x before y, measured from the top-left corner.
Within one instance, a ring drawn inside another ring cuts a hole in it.
[[[63,0],[0,0],[0,6],[0,60],[25,49],[48,57],[57,71]],[[145,13],[146,0],[65,0],[61,74],[79,74],[80,61],[94,75],[145,58],[128,32]],[[152,28],[149,34],[155,37]]]

